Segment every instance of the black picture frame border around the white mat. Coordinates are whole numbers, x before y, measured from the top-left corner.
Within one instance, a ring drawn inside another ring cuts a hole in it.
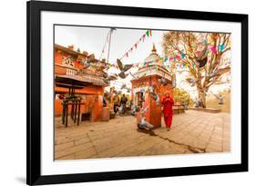
[[[30,1],[26,5],[27,77],[26,77],[26,183],[28,185],[141,179],[181,175],[248,171],[248,15],[168,10],[113,5],[85,5]],[[139,171],[108,171],[65,175],[41,174],[40,132],[40,13],[41,11],[166,17],[241,23],[241,163],[200,167],[179,167]]]

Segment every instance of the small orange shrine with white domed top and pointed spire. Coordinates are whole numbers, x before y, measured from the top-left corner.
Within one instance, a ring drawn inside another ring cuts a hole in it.
[[[148,93],[148,87],[154,86],[155,92],[159,95],[161,101],[164,93],[173,94],[173,83],[175,74],[169,73],[164,65],[161,65],[163,59],[157,53],[157,49],[153,44],[151,54],[144,60],[145,65],[138,68],[138,72],[134,73],[135,78],[131,80],[131,99],[134,105],[138,107],[147,107],[146,113],[147,122],[154,125],[155,128],[161,126],[161,103],[156,103],[155,99]],[[159,79],[164,78],[167,84],[159,82]]]

